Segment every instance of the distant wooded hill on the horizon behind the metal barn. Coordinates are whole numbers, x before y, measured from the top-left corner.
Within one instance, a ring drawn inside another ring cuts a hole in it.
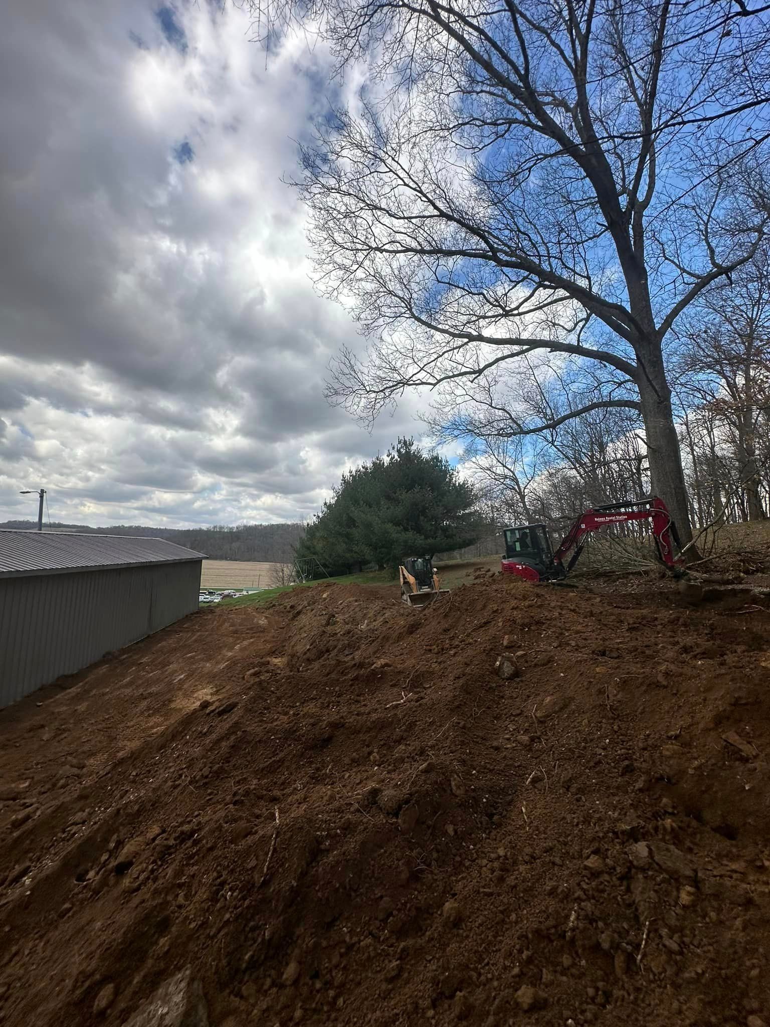
[[[5,521],[0,528],[34,530],[37,521]],[[286,563],[294,559],[294,547],[305,534],[303,524],[239,524],[234,527],[215,525],[210,528],[147,528],[144,525],[114,525],[91,528],[86,524],[63,524],[61,521],[43,525],[45,531],[77,531],[92,535],[141,535],[143,538],[167,538],[211,560],[256,560]]]

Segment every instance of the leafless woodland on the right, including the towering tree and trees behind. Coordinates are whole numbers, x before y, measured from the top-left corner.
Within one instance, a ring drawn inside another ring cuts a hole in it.
[[[416,390],[501,516],[768,512],[767,5],[251,6],[338,60],[297,182],[370,340],[332,403]]]

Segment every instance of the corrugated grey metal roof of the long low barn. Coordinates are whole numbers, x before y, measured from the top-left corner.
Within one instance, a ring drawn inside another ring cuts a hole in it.
[[[165,538],[0,529],[0,578],[203,559]]]

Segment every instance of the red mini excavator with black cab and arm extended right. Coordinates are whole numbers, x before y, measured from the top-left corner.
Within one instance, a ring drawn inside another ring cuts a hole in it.
[[[669,570],[677,570],[681,564],[681,560],[673,555],[675,545],[677,548],[680,546],[677,526],[663,500],[651,496],[639,502],[610,503],[585,510],[562,539],[555,553],[544,524],[505,528],[503,574],[516,574],[526,581],[554,581],[566,577],[577,563],[590,532],[599,531],[608,524],[623,524],[626,521],[651,521],[658,557]],[[565,565],[565,558],[572,548],[575,551]]]

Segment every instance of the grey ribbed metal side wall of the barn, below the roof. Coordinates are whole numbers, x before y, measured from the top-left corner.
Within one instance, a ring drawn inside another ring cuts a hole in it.
[[[0,708],[198,608],[200,561],[0,580]]]

